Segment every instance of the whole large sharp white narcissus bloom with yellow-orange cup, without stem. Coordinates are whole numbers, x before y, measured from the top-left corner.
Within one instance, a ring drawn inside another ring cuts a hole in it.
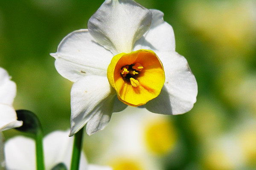
[[[67,35],[51,55],[59,74],[75,82],[70,136],[86,123],[89,135],[102,130],[127,105],[175,115],[196,101],[197,83],[175,52],[172,26],[133,0],[106,0],[88,29]]]

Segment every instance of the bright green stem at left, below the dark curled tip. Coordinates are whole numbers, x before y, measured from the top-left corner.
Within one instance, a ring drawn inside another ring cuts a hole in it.
[[[43,132],[38,130],[35,134],[35,152],[37,170],[44,170]]]

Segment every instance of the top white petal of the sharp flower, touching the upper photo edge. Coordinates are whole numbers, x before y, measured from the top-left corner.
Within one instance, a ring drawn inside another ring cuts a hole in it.
[[[130,53],[149,28],[152,14],[133,0],[106,0],[90,17],[90,34],[113,54]]]

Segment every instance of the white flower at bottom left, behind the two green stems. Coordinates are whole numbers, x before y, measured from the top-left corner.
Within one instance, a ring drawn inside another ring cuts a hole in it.
[[[69,169],[73,148],[73,137],[68,137],[69,131],[55,131],[44,138],[44,161],[46,170],[59,163],[64,163]],[[7,170],[36,170],[35,141],[16,136],[5,144]],[[111,170],[110,167],[88,165],[84,154],[80,159],[80,170]]]

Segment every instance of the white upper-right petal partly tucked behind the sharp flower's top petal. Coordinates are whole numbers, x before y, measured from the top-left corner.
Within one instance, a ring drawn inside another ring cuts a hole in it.
[[[163,20],[163,12],[151,9],[153,20],[143,37],[134,45],[134,51],[140,49],[175,51],[175,37],[172,26]]]

